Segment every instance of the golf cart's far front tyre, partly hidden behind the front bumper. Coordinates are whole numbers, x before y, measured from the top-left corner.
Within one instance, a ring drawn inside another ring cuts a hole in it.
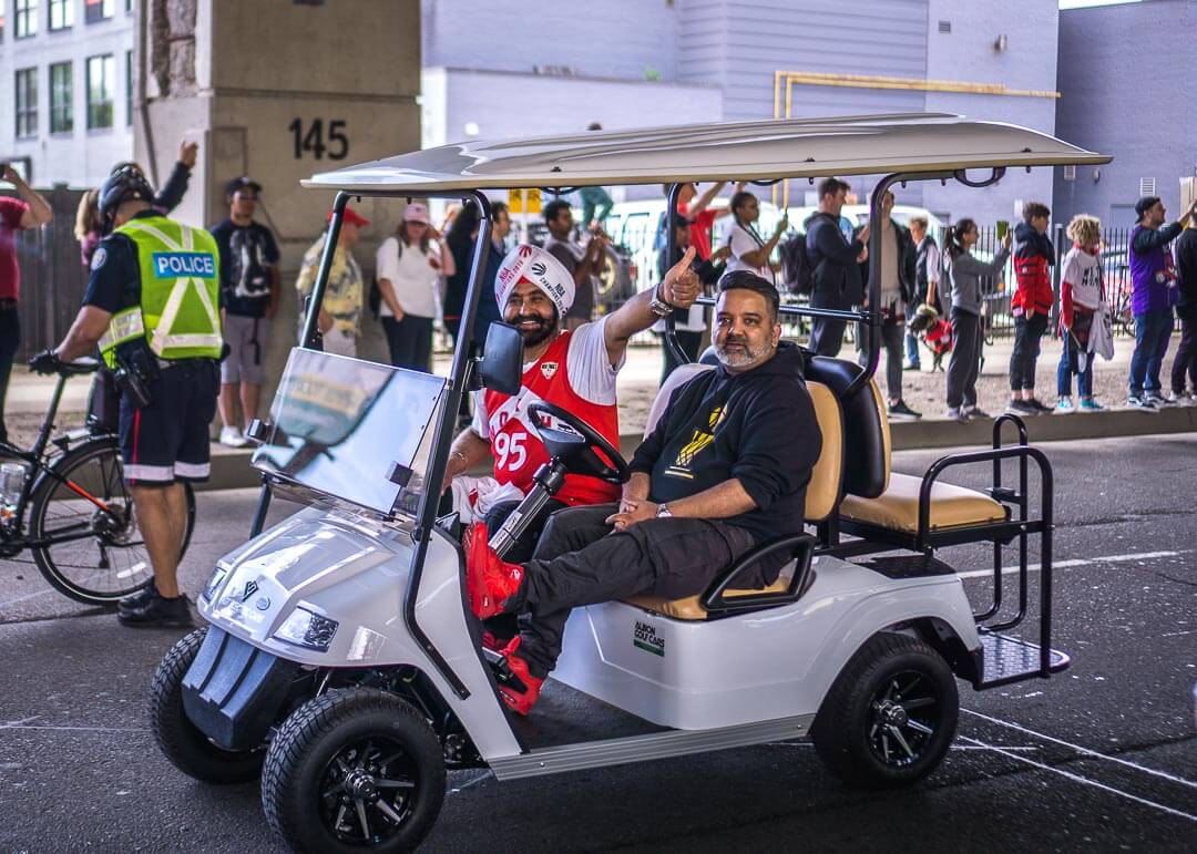
[[[183,677],[203,643],[203,627],[181,638],[162,659],[150,685],[150,728],[158,748],[178,770],[209,783],[256,780],[265,750],[225,750],[213,744],[183,710]]]

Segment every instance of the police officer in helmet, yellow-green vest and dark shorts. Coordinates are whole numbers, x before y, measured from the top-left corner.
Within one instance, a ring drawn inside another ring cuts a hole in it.
[[[208,423],[215,414],[223,344],[219,254],[202,228],[151,208],[153,189],[135,166],[117,167],[99,190],[108,237],[92,256],[83,309],[66,338],[30,367],[99,347],[121,389],[124,477],[153,582],[119,605],[124,626],[186,627],[178,556],[187,530],[182,481],[208,477]]]

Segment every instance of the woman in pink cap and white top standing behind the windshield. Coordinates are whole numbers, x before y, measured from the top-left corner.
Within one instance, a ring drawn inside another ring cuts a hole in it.
[[[378,315],[390,364],[432,371],[432,321],[437,313],[437,280],[456,273],[452,252],[429,221],[423,202],[408,202],[399,233],[378,246],[375,258],[382,305]]]

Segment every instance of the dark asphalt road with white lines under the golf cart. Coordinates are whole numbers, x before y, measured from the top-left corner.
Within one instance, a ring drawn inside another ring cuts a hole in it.
[[[1074,664],[986,693],[960,683],[956,744],[923,785],[846,789],[802,743],[508,783],[462,771],[426,848],[1197,850],[1197,443],[1044,447],[1057,482],[1056,646]],[[937,456],[901,453],[895,468]],[[254,500],[200,495],[187,590],[243,539]],[[965,572],[991,565],[973,548],[944,557]],[[986,580],[967,584],[984,599]],[[0,849],[280,850],[256,786],[196,783],[153,745],[146,690],[176,634],[122,629],[34,566],[0,561]]]

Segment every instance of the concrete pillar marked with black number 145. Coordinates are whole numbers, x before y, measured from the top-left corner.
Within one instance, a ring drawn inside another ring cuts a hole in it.
[[[227,216],[229,179],[249,175],[263,187],[257,219],[274,230],[282,251],[281,309],[267,356],[277,380],[296,340],[299,262],[333,200],[299,181],[419,148],[420,5],[141,0],[136,42],[135,159],[160,183],[180,141],[200,144],[174,215],[211,226]],[[402,206],[364,200],[354,207],[372,220],[354,252],[369,282],[373,251]],[[384,360],[370,318],[359,353]],[[274,385],[263,389],[263,411]]]

